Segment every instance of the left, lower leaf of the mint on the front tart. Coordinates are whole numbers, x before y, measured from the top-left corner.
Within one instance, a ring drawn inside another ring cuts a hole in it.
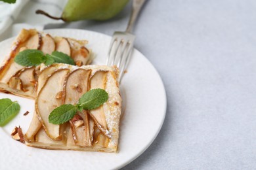
[[[71,120],[77,112],[77,107],[74,105],[61,105],[54,109],[49,117],[48,120],[51,124],[64,124]]]

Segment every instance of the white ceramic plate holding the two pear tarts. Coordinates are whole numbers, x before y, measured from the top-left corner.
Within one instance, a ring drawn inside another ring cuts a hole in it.
[[[94,63],[103,65],[111,37],[79,29],[45,30],[51,35],[89,40],[89,48],[96,54]],[[0,61],[9,54],[14,38],[0,42]],[[7,126],[0,128],[0,169],[119,169],[135,160],[158,135],[166,112],[163,82],[153,65],[138,51],[123,77],[121,90],[125,92],[125,114],[120,124],[119,152],[79,152],[44,150],[14,141],[10,134],[14,126],[26,132],[33,114],[33,100],[0,93],[21,105],[20,114]],[[23,113],[30,114],[23,116]]]

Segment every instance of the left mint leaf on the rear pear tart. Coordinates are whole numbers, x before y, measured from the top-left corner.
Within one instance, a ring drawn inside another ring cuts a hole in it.
[[[14,61],[23,66],[36,66],[45,61],[43,52],[40,50],[24,50],[19,52]]]

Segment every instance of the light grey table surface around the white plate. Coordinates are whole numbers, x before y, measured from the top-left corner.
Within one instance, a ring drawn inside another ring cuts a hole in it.
[[[130,7],[108,22],[46,28],[112,35]],[[123,169],[256,169],[256,1],[148,0],[134,33],[168,104],[154,143]]]

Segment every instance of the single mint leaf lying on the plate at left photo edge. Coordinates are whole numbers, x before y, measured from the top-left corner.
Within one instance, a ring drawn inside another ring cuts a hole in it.
[[[20,111],[20,105],[11,99],[0,99],[0,126],[5,126]]]

